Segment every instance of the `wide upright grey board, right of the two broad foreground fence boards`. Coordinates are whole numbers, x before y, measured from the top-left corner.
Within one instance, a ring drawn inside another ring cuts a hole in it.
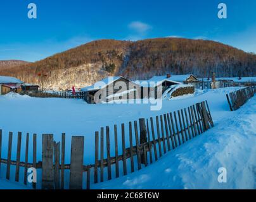
[[[72,136],[70,160],[70,189],[82,189],[84,136]]]

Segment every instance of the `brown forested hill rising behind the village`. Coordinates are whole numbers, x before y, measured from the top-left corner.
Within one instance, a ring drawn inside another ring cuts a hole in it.
[[[109,75],[137,80],[166,73],[207,77],[212,72],[256,76],[256,55],[210,40],[98,40],[41,61],[0,68],[0,75],[39,85],[43,75],[47,88],[62,89],[91,85]]]

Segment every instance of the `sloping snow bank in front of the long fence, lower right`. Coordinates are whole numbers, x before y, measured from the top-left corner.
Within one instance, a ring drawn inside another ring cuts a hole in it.
[[[92,188],[256,189],[255,110],[256,97],[149,167]],[[217,181],[219,167],[227,169],[227,183]]]

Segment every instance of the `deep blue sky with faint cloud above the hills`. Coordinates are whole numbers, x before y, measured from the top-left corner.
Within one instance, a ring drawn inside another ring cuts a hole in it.
[[[37,19],[27,17],[29,3]],[[217,18],[219,3],[227,19]],[[97,39],[184,37],[256,52],[255,0],[1,0],[0,59],[37,61]]]

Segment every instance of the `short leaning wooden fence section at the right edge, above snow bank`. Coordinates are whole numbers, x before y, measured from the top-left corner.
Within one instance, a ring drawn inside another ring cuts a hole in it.
[[[239,109],[256,93],[256,86],[248,86],[240,90],[228,93],[227,102],[231,111]]]

